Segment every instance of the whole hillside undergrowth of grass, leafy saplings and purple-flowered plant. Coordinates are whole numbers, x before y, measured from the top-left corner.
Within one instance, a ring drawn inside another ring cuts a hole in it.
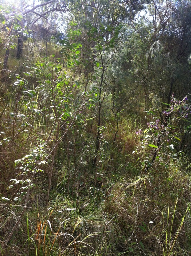
[[[189,255],[190,100],[132,111],[112,72],[120,28],[106,42],[86,24],[87,63],[76,25],[47,57],[1,72],[0,252]]]

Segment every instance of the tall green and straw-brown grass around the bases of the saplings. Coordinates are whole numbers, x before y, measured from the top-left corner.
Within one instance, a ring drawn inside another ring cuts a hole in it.
[[[34,101],[38,101],[38,97],[37,94]],[[13,129],[20,129],[21,120],[15,119],[13,127],[9,113],[15,111],[27,115],[29,110],[22,108],[22,100],[21,97],[15,110],[15,99],[10,99],[10,105],[2,114],[0,125],[5,132],[2,133],[2,140],[11,137]],[[39,104],[43,105],[43,100]],[[4,104],[1,109],[4,109]],[[9,180],[18,175],[15,160],[34,150],[39,141],[49,138],[47,148],[51,155],[55,134],[51,133],[48,112],[45,113],[31,115],[31,126],[23,129],[11,143],[7,141],[2,145],[1,244],[14,225],[19,225],[6,248],[3,250],[1,247],[1,254],[187,255],[191,244],[188,158],[165,155],[161,159],[162,164],[153,165],[148,173],[143,174],[141,160],[144,150],[141,154],[132,154],[141,142],[136,131],[143,126],[143,122],[133,114],[121,116],[115,142],[115,120],[105,120],[96,175],[91,166],[96,126],[93,124],[88,132],[85,127],[80,127],[81,131],[73,131],[72,127],[60,142],[52,166],[48,209],[44,206],[50,160],[45,156],[48,164],[42,166],[44,172],[35,175],[35,187],[30,190],[26,212],[21,215],[24,200],[14,201],[11,198],[15,191],[21,191],[19,184],[12,190],[7,187]],[[87,125],[91,127],[91,123]],[[165,165],[166,159],[168,166]],[[26,178],[21,176],[23,180]]]

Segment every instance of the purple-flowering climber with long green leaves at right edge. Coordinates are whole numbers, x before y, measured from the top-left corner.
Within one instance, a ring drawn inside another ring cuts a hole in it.
[[[147,128],[136,131],[141,136],[139,149],[144,148],[147,152],[145,170],[153,165],[157,154],[173,156],[176,153],[177,156],[177,151],[185,146],[182,143],[183,136],[190,133],[191,125],[188,124],[191,123],[191,105],[188,97],[179,100],[172,95],[171,104],[162,104],[166,107],[146,111],[149,117]]]

